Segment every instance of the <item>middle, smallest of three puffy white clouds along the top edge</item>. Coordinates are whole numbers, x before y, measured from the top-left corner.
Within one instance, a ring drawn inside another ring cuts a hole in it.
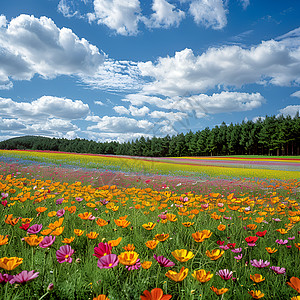
[[[153,0],[152,10],[154,13],[149,19],[144,18],[144,23],[149,28],[170,28],[179,26],[181,20],[185,17],[185,13],[176,9],[175,5],[170,4],[166,0]]]

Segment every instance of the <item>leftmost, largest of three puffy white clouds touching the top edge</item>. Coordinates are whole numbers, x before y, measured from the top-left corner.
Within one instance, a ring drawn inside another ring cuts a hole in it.
[[[139,0],[94,0],[90,21],[104,24],[121,35],[136,35],[141,18]]]

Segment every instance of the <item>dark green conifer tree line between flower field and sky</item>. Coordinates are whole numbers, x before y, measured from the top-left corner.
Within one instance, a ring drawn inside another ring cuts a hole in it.
[[[299,155],[300,116],[266,116],[256,122],[221,125],[186,134],[140,137],[119,143],[23,136],[0,142],[0,149],[50,150],[130,156]]]

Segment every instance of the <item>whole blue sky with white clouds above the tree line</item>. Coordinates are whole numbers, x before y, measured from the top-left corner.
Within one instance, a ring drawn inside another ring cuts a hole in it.
[[[0,140],[126,142],[299,110],[298,0],[0,2]]]

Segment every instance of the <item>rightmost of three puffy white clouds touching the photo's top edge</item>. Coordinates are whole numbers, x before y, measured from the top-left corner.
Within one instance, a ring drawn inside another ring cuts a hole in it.
[[[206,28],[222,29],[227,25],[228,11],[222,0],[192,0],[189,12],[197,24]]]

